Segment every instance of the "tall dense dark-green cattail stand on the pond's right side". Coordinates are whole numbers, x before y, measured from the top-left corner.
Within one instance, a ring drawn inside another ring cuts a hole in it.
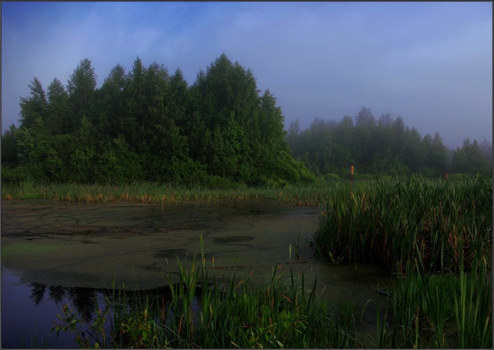
[[[469,270],[492,247],[492,180],[336,183],[312,237],[329,261],[380,264],[405,274]],[[462,247],[462,248],[460,248]]]

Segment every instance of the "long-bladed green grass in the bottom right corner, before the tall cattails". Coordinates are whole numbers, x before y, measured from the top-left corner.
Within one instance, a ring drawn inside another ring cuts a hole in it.
[[[492,282],[485,257],[475,254],[469,273],[462,262],[457,274],[423,270],[393,281],[384,313],[378,310],[376,347],[492,348]]]

